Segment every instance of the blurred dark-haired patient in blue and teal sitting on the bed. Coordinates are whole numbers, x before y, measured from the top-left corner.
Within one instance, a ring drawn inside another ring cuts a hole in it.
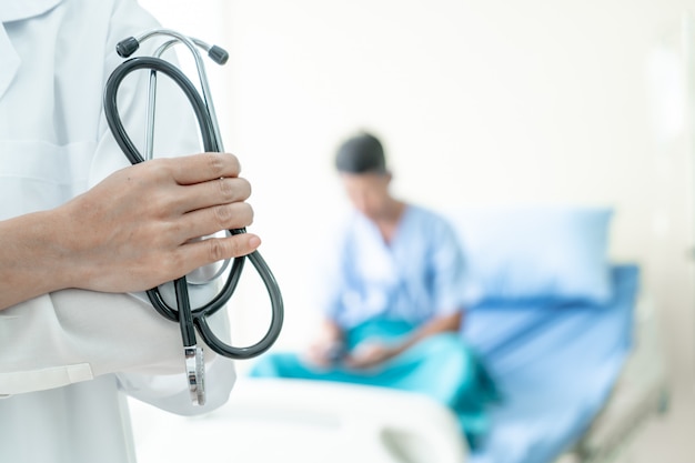
[[[391,195],[375,137],[346,140],[335,165],[355,211],[321,282],[322,330],[304,355],[269,354],[251,374],[421,392],[456,413],[474,446],[495,390],[460,335],[464,261],[456,235],[435,213]]]

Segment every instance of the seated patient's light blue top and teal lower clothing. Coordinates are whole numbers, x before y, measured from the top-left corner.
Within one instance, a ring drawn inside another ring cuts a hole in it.
[[[345,332],[346,349],[367,339],[395,342],[434,318],[463,310],[465,265],[456,234],[437,214],[406,207],[390,243],[355,213],[332,272],[322,282],[323,310]],[[475,445],[487,429],[485,405],[494,385],[459,333],[429,336],[382,365],[319,369],[295,353],[272,353],[253,376],[340,381],[421,392],[459,415]]]

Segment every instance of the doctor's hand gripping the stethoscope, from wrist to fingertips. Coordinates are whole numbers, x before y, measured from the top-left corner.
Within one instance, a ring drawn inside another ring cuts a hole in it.
[[[114,172],[56,210],[71,288],[134,292],[251,253],[253,234],[192,241],[251,224],[251,185],[231,154],[157,159]],[[64,270],[63,270],[64,271]]]

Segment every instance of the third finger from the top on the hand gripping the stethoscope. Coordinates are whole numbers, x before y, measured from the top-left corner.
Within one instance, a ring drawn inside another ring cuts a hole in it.
[[[182,225],[174,225],[181,243],[194,238],[207,236],[222,230],[242,229],[253,222],[253,209],[245,202],[220,204],[199,209],[184,214]]]

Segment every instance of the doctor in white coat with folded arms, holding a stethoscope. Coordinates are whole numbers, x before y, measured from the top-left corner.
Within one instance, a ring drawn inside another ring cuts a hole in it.
[[[133,462],[124,392],[204,412],[234,370],[207,362],[194,407],[179,326],[128,293],[258,248],[252,234],[189,242],[249,225],[250,184],[231,154],[130,167],[115,145],[101,103],[115,43],[159,27],[134,0],[2,0],[0,20],[0,461]],[[144,74],[123,84],[134,128]],[[173,107],[159,151],[198,152]]]

